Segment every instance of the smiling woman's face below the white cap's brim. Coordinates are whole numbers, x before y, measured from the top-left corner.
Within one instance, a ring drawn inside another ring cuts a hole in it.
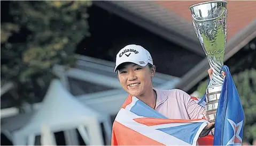
[[[125,63],[118,70],[119,81],[122,88],[132,96],[141,96],[146,90],[152,89],[151,78],[154,75],[153,66],[151,69],[148,65],[145,67],[135,63]]]

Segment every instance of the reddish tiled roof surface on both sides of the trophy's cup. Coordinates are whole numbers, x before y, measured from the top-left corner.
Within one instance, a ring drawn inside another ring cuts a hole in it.
[[[204,1],[154,1],[191,24],[189,6]],[[234,37],[249,23],[256,19],[256,3],[254,1],[228,1],[227,40]]]

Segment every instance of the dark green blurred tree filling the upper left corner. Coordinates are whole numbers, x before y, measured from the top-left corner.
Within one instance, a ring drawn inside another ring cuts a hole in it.
[[[89,36],[87,7],[91,2],[3,3],[8,3],[9,12],[1,17],[11,19],[1,21],[1,87],[6,82],[14,84],[11,94],[20,107],[24,102],[42,100],[56,78],[53,65],[74,65],[76,45]]]

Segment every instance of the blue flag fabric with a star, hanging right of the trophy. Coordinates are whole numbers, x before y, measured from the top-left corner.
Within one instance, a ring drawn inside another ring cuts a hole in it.
[[[213,145],[242,145],[244,110],[228,66],[224,65],[222,71],[226,77],[216,113]],[[204,95],[202,100],[205,99]]]

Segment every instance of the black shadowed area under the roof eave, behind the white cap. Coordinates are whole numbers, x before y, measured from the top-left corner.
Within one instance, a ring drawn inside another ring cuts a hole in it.
[[[118,51],[129,44],[149,50],[157,72],[181,77],[203,59],[120,16],[96,5],[88,9],[91,36],[83,39],[76,53],[115,61]]]

